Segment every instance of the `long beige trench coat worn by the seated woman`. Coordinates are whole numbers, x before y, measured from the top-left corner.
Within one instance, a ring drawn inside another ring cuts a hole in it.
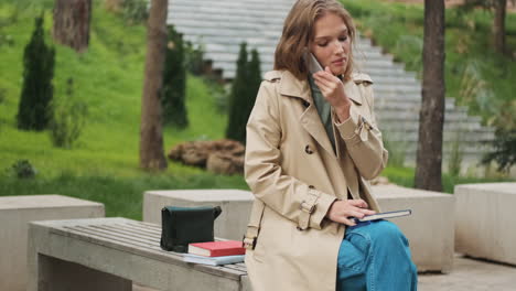
[[[309,83],[287,71],[266,74],[247,123],[245,162],[256,196],[246,235],[256,244],[246,252],[254,291],[335,290],[345,226],[324,218],[329,207],[350,192],[379,211],[367,180],[385,168],[387,151],[372,83],[355,74],[344,84],[353,105],[351,119],[334,122],[335,153]]]

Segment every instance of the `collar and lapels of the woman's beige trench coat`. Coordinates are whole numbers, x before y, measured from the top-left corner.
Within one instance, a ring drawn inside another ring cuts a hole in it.
[[[355,104],[362,105],[362,96],[359,89],[353,80],[347,80],[346,83],[344,83],[344,90],[350,99],[352,99]],[[304,128],[304,130],[307,130],[310,133],[310,136],[313,137],[314,140],[319,142],[319,144],[321,144],[321,147],[329,154],[331,154],[334,158],[338,158],[338,154],[335,153],[330,138],[327,137],[326,130],[321,121],[321,117],[319,116],[318,109],[315,108],[308,78],[300,80],[295,78],[292,75],[292,73],[284,71],[281,76],[280,94],[281,96],[286,97],[301,98],[302,100],[308,103],[308,106],[305,106],[303,114],[299,117],[301,126]],[[335,131],[336,128],[333,127],[333,130]],[[338,147],[336,144],[337,142],[338,141],[335,142],[336,150],[338,150]]]

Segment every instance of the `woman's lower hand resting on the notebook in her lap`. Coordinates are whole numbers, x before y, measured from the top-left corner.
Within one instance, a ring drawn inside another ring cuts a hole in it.
[[[348,217],[364,218],[366,215],[373,215],[376,212],[367,209],[368,205],[363,200],[335,201],[326,213],[326,217],[335,223],[347,226],[356,225]]]

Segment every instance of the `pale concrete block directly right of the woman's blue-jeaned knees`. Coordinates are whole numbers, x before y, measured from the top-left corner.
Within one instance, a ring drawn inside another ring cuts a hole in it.
[[[453,266],[453,195],[396,185],[373,186],[383,212],[411,209],[412,215],[390,219],[409,239],[418,271],[448,273]]]

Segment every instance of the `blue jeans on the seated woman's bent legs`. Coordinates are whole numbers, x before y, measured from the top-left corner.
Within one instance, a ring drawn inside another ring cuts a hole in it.
[[[337,291],[415,291],[408,240],[387,220],[348,227],[338,250]]]

